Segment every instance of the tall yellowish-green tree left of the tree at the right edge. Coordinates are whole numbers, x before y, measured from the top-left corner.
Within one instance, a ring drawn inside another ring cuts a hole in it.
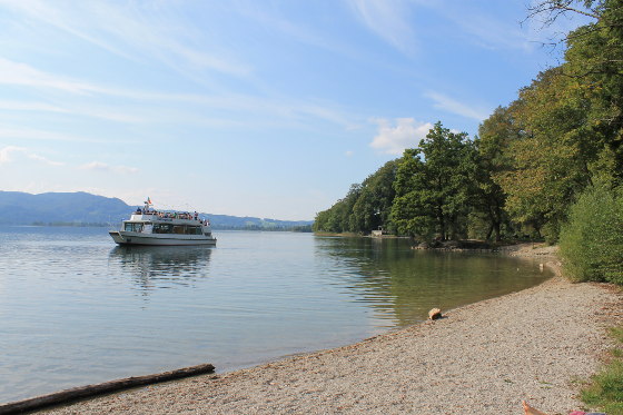
[[[521,90],[511,106],[517,128],[507,148],[511,169],[495,176],[512,218],[537,231],[545,226],[552,240],[577,191],[591,182],[589,166],[596,154],[589,136],[580,134],[586,112],[584,102],[570,98],[570,81],[553,68]]]

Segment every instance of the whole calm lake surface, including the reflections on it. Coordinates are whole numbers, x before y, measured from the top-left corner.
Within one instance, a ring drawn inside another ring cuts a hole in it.
[[[216,248],[121,248],[105,228],[0,228],[0,402],[339,346],[551,276],[405,239],[215,234]]]

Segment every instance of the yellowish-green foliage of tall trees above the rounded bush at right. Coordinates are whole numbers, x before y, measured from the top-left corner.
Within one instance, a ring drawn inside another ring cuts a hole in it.
[[[544,0],[532,10],[554,20],[574,10],[573,3]],[[567,36],[566,61],[521,90],[507,122],[494,113],[483,123],[497,119],[494,131],[506,136],[507,166],[492,176],[506,195],[507,213],[543,230],[548,241],[556,240],[584,188],[599,180],[622,182],[623,0],[584,6],[595,21]]]

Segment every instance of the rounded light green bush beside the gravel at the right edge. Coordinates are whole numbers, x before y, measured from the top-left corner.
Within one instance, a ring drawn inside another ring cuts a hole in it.
[[[623,195],[605,186],[585,190],[571,207],[560,241],[572,279],[623,285]]]

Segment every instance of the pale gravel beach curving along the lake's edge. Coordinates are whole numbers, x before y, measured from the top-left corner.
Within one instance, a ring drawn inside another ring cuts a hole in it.
[[[528,254],[536,254],[530,249]],[[137,388],[47,414],[547,414],[582,404],[622,296],[554,277],[362,343]]]

